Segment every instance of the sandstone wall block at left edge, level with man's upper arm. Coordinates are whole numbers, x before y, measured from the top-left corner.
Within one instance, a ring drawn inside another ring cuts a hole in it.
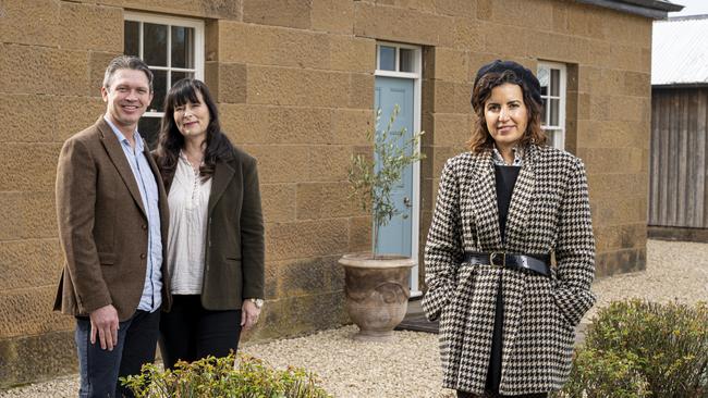
[[[53,191],[57,144],[7,144],[0,148],[0,191],[44,190]]]

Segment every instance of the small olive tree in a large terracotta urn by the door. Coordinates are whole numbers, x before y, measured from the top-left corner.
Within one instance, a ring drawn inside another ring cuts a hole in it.
[[[401,253],[381,253],[378,247],[381,227],[402,214],[392,200],[392,188],[406,166],[424,159],[418,150],[423,132],[408,137],[405,128],[393,129],[398,114],[395,105],[386,128],[379,129],[378,110],[376,126],[367,132],[374,157],[352,156],[350,165],[352,195],[358,196],[362,208],[374,219],[371,251],[344,254],[339,260],[344,268],[346,311],[359,327],[354,336],[358,340],[389,339],[405,316],[411,295],[407,279],[415,260]]]

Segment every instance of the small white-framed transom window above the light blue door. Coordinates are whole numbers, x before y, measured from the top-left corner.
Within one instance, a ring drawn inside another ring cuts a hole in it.
[[[420,47],[379,41],[376,45],[376,75],[420,77]]]

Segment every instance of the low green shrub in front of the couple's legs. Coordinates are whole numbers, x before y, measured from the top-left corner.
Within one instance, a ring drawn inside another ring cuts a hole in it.
[[[235,364],[235,366],[234,366]],[[273,370],[239,353],[178,362],[173,371],[146,364],[136,376],[121,378],[138,398],[328,398],[316,376],[303,369]]]

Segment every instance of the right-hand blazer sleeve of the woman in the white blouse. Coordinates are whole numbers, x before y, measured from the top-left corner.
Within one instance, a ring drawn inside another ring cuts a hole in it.
[[[243,299],[265,298],[265,242],[257,161],[244,162],[244,194],[241,210]]]

